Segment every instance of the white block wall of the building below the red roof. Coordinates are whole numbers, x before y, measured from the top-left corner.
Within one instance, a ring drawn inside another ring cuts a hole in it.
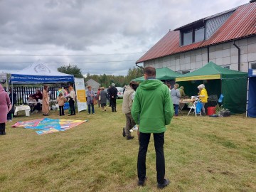
[[[256,36],[235,41],[235,44],[240,48],[240,71],[247,72],[250,63],[256,63]],[[221,66],[230,66],[232,70],[238,70],[238,49],[235,48],[233,42],[210,46],[209,61]],[[154,68],[168,67],[176,72],[181,70],[193,71],[207,63],[207,48],[200,48],[145,61],[144,67],[151,65]]]

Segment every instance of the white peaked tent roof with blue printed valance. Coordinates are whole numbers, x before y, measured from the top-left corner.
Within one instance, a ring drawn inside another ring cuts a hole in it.
[[[10,81],[14,84],[74,82],[74,75],[60,73],[38,60],[27,68],[12,73]]]

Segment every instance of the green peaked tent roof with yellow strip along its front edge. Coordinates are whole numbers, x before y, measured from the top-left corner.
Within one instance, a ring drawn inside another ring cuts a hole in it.
[[[229,70],[222,68],[213,62],[207,63],[203,68],[194,70],[191,73],[180,75],[176,78],[176,81],[187,81],[187,80],[215,80],[225,78],[246,78],[247,73],[240,72],[237,70]]]

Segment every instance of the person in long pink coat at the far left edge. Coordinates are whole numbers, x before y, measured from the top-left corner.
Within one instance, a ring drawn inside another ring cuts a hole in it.
[[[8,97],[7,92],[0,84],[0,135],[6,134],[6,116],[8,112],[12,109],[10,97]]]

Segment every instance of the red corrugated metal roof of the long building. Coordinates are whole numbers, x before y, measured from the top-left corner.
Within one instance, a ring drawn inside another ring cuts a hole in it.
[[[255,36],[256,2],[239,6],[208,40],[192,43],[187,46],[180,46],[179,34],[179,31],[169,31],[166,33],[166,35],[139,58],[136,63],[142,63],[146,60],[161,58],[166,55],[174,55],[176,53],[182,53],[219,43],[235,41],[248,36]]]

